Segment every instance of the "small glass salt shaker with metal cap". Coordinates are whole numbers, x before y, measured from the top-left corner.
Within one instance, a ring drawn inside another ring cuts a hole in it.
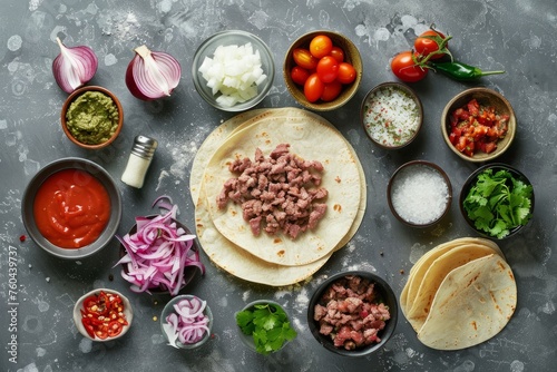
[[[128,164],[121,175],[123,183],[136,188],[143,187],[145,175],[147,174],[147,169],[149,168],[157,146],[157,140],[150,137],[139,135],[134,139]]]

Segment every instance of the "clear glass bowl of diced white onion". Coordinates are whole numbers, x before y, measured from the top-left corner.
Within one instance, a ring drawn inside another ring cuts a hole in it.
[[[221,31],[195,52],[194,86],[213,107],[243,111],[260,104],[273,86],[275,66],[271,50],[255,35]]]

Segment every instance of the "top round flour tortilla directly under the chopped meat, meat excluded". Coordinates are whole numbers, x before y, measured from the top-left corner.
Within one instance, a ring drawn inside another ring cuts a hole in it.
[[[317,228],[295,241],[284,236],[254,236],[242,218],[241,206],[216,206],[216,195],[232,177],[227,164],[237,157],[253,158],[256,148],[268,154],[280,144],[291,144],[291,151],[324,167],[322,187],[329,190],[328,213]],[[322,144],[328,145],[326,151]],[[207,164],[204,180],[211,217],[228,241],[263,261],[280,265],[305,265],[328,256],[349,233],[356,219],[361,200],[359,161],[335,129],[313,118],[267,117],[234,133]]]

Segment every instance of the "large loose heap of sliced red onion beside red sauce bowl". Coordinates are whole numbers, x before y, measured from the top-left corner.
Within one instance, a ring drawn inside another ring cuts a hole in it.
[[[176,224],[178,207],[167,196],[157,198],[155,206],[167,213],[154,218],[136,217],[136,233],[116,236],[126,254],[115,266],[125,265],[127,272],[123,270],[121,276],[131,283],[131,291],[150,293],[149,290],[163,288],[175,296],[186,285],[184,272],[198,267],[203,275],[205,266],[199,252],[192,248],[195,235]]]

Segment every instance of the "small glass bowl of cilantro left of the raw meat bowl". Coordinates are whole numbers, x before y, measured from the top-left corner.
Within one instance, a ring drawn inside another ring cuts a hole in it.
[[[297,335],[284,309],[274,301],[248,303],[235,317],[244,344],[263,355],[277,352]]]

